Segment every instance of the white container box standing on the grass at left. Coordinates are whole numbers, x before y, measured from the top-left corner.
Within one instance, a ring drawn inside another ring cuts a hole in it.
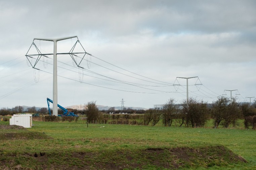
[[[32,114],[15,114],[10,118],[10,125],[30,128],[32,127]]]

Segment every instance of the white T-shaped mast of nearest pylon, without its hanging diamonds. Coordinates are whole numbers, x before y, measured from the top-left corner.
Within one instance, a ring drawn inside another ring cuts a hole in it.
[[[43,39],[43,38],[34,38],[34,40],[43,40],[43,41],[53,41],[53,103],[52,103],[52,114],[54,116],[58,116],[58,90],[57,90],[57,42],[61,40],[67,40],[71,38],[77,38],[77,36],[73,37],[65,37],[59,39]],[[77,38],[78,39],[78,38]]]

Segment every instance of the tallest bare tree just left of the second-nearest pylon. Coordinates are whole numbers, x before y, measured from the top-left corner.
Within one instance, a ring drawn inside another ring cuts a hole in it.
[[[163,107],[163,124],[165,126],[171,126],[172,120],[176,118],[178,113],[178,106],[175,106],[175,100],[173,98],[169,99]]]

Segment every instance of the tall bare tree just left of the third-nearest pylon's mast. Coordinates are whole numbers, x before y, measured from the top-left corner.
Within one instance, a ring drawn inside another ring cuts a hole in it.
[[[224,119],[224,115],[227,112],[228,103],[230,100],[226,97],[218,97],[218,100],[213,102],[211,109],[211,117],[213,118],[213,124],[218,128],[220,122]]]

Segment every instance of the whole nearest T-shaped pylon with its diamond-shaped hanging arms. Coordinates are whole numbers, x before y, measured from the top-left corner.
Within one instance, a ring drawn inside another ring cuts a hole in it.
[[[77,42],[71,48],[70,52],[68,52],[68,53],[57,53],[57,42],[61,41],[61,40],[71,39],[71,38],[77,38]],[[34,43],[35,40],[52,41],[53,42],[53,53],[51,53],[51,54],[42,54],[40,52],[40,50],[37,48],[37,46],[35,45],[35,43]],[[81,45],[81,47],[83,49],[82,52],[74,52],[74,49],[77,47],[77,44]],[[29,54],[29,51],[30,51],[32,46],[34,46],[36,48],[37,54]],[[57,103],[58,103],[57,102],[57,54],[69,54],[71,56],[72,60],[76,63],[77,67],[80,67],[80,68],[83,68],[83,67],[80,66],[80,64],[81,64],[82,60],[84,59],[85,55],[86,54],[91,55],[91,54],[87,53],[84,50],[84,48],[83,48],[82,44],[80,43],[80,41],[78,40],[77,36],[58,38],[58,39],[34,38],[33,43],[31,44],[27,54],[25,55],[27,57],[29,63],[31,64],[32,68],[40,70],[39,68],[35,67],[36,64],[39,62],[40,58],[42,56],[43,57],[48,57],[48,55],[53,55],[53,104],[52,104],[53,105],[53,109],[52,109],[52,112],[53,112],[54,116],[58,116],[58,107],[57,107]],[[82,54],[83,55],[81,57],[82,59],[81,59],[80,62],[77,62],[74,59],[74,56],[77,56],[78,54]],[[33,58],[36,59],[34,64],[32,63],[32,59]],[[31,59],[31,61],[29,59]]]

